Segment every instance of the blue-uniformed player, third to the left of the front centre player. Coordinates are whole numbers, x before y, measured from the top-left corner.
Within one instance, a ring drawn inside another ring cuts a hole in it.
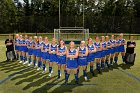
[[[43,62],[43,72],[46,72],[46,62],[49,61],[49,41],[48,41],[48,37],[44,38],[44,43],[43,46],[41,48],[42,51],[42,62]]]

